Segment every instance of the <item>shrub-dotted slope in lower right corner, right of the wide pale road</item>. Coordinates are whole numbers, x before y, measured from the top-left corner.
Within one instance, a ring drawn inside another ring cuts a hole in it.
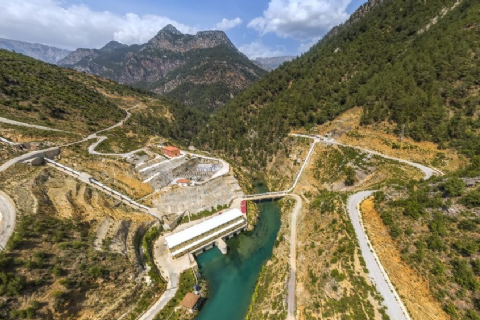
[[[386,188],[375,197],[402,260],[428,279],[434,297],[455,319],[480,317],[480,209],[478,185],[469,178],[478,177],[478,163],[475,158],[458,172]]]

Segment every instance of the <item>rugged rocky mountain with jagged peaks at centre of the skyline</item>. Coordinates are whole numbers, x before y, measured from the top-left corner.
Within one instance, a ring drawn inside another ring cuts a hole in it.
[[[78,49],[60,65],[148,89],[213,110],[265,71],[240,53],[222,31],[182,34],[168,25],[143,45],[110,42]]]

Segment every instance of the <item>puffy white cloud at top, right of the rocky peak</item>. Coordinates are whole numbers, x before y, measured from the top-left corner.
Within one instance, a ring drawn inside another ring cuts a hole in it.
[[[248,23],[262,35],[269,32],[282,38],[309,40],[323,36],[349,17],[352,0],[270,0],[262,17]]]

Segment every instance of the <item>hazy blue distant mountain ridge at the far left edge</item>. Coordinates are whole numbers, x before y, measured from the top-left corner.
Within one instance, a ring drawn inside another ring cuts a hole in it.
[[[15,51],[34,59],[54,64],[71,53],[69,50],[46,46],[39,43],[29,43],[2,38],[0,38],[0,49]]]

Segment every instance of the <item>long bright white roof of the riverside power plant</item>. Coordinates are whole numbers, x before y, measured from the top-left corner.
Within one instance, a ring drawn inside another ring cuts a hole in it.
[[[243,217],[242,212],[238,209],[231,209],[202,223],[196,224],[193,227],[165,237],[165,241],[167,242],[168,248],[173,248],[239,217]]]

